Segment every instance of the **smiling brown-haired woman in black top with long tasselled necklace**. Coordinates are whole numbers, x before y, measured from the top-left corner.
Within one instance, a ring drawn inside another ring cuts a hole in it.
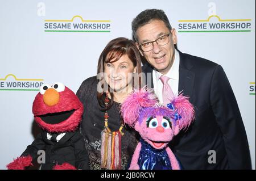
[[[135,43],[124,37],[110,41],[98,60],[97,73],[77,91],[84,104],[81,133],[90,169],[127,169],[138,138],[133,129],[124,127],[119,107],[141,84],[134,81],[134,75],[141,73]]]

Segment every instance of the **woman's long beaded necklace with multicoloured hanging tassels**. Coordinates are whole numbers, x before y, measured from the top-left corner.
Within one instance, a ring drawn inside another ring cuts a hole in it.
[[[109,98],[106,93],[104,99],[105,106],[109,106]],[[123,136],[122,129],[124,127],[123,119],[118,131],[112,132],[108,125],[108,111],[104,115],[104,130],[101,132],[101,169],[120,170],[121,169],[121,137]]]

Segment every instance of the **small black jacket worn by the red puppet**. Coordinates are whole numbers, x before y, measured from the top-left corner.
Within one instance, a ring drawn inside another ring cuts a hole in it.
[[[42,170],[51,170],[56,164],[66,162],[76,169],[89,169],[88,154],[84,140],[79,132],[67,132],[59,142],[55,143],[47,139],[47,132],[42,131],[36,139],[23,152],[22,156],[31,155],[33,162],[38,158],[38,150],[46,153],[46,163],[42,163]]]

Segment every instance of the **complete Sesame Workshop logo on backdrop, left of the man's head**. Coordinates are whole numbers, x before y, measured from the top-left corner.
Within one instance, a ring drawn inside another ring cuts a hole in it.
[[[73,16],[71,20],[44,20],[45,32],[110,32],[110,20],[84,20]]]

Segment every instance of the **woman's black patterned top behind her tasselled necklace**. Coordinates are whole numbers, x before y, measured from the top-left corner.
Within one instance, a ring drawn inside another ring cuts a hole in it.
[[[89,154],[90,169],[101,169],[101,132],[104,129],[104,111],[97,100],[97,78],[90,77],[82,82],[77,96],[84,104],[84,114],[81,122],[81,133],[84,136],[85,147]],[[109,128],[117,131],[121,125],[120,104],[113,103],[108,110]],[[123,129],[125,134],[121,138],[121,166],[127,169],[134,150],[138,144],[138,134],[129,126]]]

